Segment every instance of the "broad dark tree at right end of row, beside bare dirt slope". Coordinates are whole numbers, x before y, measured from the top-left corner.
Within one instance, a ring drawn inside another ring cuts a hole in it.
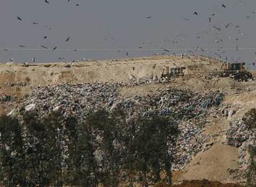
[[[137,134],[133,142],[137,170],[142,173],[143,186],[149,182],[161,180],[160,173],[164,170],[168,183],[171,184],[171,164],[173,154],[169,148],[176,144],[177,125],[167,117],[153,115],[139,117]]]

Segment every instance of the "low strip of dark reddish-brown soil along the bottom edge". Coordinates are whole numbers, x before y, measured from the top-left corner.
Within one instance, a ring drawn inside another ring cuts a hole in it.
[[[168,187],[168,185],[160,184],[155,187]],[[184,181],[181,185],[176,185],[174,187],[242,187],[240,185],[235,184],[222,184],[219,182],[211,182],[208,180],[192,180],[192,181]]]

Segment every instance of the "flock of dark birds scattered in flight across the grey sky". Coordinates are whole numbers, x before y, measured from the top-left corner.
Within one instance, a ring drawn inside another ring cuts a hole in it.
[[[45,1],[45,4],[50,4],[51,2],[49,0],[43,0]],[[67,2],[70,2],[72,0],[67,0]],[[244,5],[246,4],[246,2],[243,2],[241,1],[240,4]],[[80,4],[75,4],[75,6],[79,6]],[[226,9],[227,8],[227,5],[226,4],[223,4],[221,3],[220,4],[220,8],[221,9]],[[200,15],[200,12],[198,12],[197,10],[192,12],[191,13],[192,15],[194,16],[199,16]],[[247,18],[250,18],[252,15],[255,15],[256,12],[255,11],[251,11],[251,15],[247,15]],[[216,13],[215,14],[210,14],[210,16],[207,18],[208,20],[208,23],[211,24],[213,22],[213,19],[216,17]],[[22,22],[23,21],[23,18],[21,16],[17,16],[16,17],[18,21]],[[146,17],[148,20],[150,19],[153,19],[153,16],[148,16]],[[187,17],[184,17],[183,20],[186,20],[186,21],[190,21],[190,18],[187,18]],[[32,22],[33,25],[38,25],[39,23],[38,22]],[[49,26],[46,26],[49,28],[49,30],[51,30],[51,27]],[[216,26],[216,25],[212,25],[211,27],[211,30],[210,31],[202,31],[200,33],[196,33],[196,39],[201,39],[202,38],[202,34],[209,34],[209,33],[215,33],[216,34],[216,38],[214,40],[214,42],[216,42],[216,44],[218,45],[218,49],[216,49],[216,52],[214,52],[213,55],[215,55],[215,57],[218,57],[222,60],[225,60],[227,62],[228,60],[228,56],[226,55],[226,52],[228,50],[224,50],[224,48],[222,47],[221,44],[224,43],[224,39],[221,38],[221,31],[223,31],[224,29],[229,29],[229,28],[233,28],[234,30],[237,31],[237,34],[241,35],[241,36],[244,36],[245,34],[242,32],[242,29],[241,29],[241,26],[240,25],[234,25],[233,23],[227,23],[225,25],[222,25],[222,26]],[[207,51],[208,49],[205,49],[203,47],[195,47],[195,49],[186,49],[185,46],[182,46],[182,42],[186,40],[186,35],[184,34],[180,34],[177,36],[176,39],[174,39],[173,41],[170,41],[168,38],[166,39],[163,39],[162,41],[160,41],[160,46],[159,46],[159,50],[163,50],[163,52],[161,53],[161,55],[164,55],[164,54],[170,54],[171,53],[171,50],[168,49],[167,47],[165,47],[166,44],[173,44],[173,45],[179,45],[179,47],[181,47],[180,49],[184,49],[182,50],[182,55],[184,54],[194,54],[194,53],[197,53],[198,51],[200,52],[205,52]],[[43,36],[43,39],[47,39],[48,36]],[[106,38],[106,40],[114,40],[115,38],[114,37],[108,37]],[[231,36],[229,36],[229,39],[231,39]],[[69,42],[71,40],[70,36],[67,36],[67,38],[65,39],[66,42]],[[239,38],[235,38],[235,41],[239,41]],[[150,42],[150,43],[147,43],[147,44],[152,44],[153,42]],[[142,42],[142,45],[139,46],[139,49],[142,49],[143,48],[143,44],[146,44],[146,42]],[[24,45],[19,45],[20,48],[24,48],[26,46]],[[41,45],[41,48],[42,49],[48,49],[48,50],[56,50],[58,49],[58,46],[54,46],[53,48],[49,48],[45,45]],[[234,47],[235,50],[239,50],[239,47],[238,46],[235,46]],[[5,51],[7,51],[8,49],[4,49]],[[74,49],[74,51],[77,51],[77,49]],[[117,50],[117,52],[121,52],[121,50]],[[126,50],[126,56],[129,55],[129,52],[128,50]],[[156,53],[156,55],[158,55],[158,53]],[[175,53],[173,53],[173,55],[176,55]],[[256,55],[256,52],[255,52],[255,55]],[[59,57],[60,60],[64,60],[64,57]],[[233,60],[233,62],[241,62],[241,57],[237,58],[237,59],[234,59],[234,58],[231,58]],[[14,59],[10,59],[11,61],[13,61]],[[32,58],[33,62],[35,62],[35,57]],[[73,62],[75,62],[75,60],[73,60]],[[251,63],[251,65],[254,65],[255,66],[255,63]]]

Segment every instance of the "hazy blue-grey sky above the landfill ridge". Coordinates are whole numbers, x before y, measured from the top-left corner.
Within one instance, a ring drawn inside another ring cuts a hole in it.
[[[160,47],[176,49],[166,54],[192,50],[247,63],[256,57],[255,0],[48,1],[0,1],[0,62],[10,58],[31,62],[32,57],[36,62],[58,62],[58,57],[120,58],[126,57],[126,51],[128,57],[137,57],[161,54]],[[42,45],[58,48],[43,50]]]

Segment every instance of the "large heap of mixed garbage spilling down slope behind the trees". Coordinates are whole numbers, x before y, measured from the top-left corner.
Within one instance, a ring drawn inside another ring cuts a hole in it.
[[[153,95],[140,94],[130,98],[119,94],[119,90],[124,87],[157,83],[129,81],[36,87],[10,115],[34,111],[40,117],[51,111],[59,111],[64,116],[75,115],[82,121],[97,109],[106,108],[112,111],[121,107],[126,111],[127,119],[139,114],[150,117],[153,113],[170,116],[179,123],[181,131],[175,148],[177,159],[173,165],[174,170],[180,170],[196,153],[204,149],[203,145],[207,140],[200,134],[205,125],[204,118],[209,114],[218,113],[223,94],[218,92],[197,94],[174,87],[166,87]]]

